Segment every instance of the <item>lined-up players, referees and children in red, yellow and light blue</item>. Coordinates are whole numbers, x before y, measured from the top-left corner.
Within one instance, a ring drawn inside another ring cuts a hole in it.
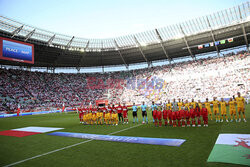
[[[211,110],[211,105],[213,106],[213,112]],[[208,101],[208,98],[204,103],[195,102],[192,99],[191,102],[188,100],[183,102],[183,100],[179,99],[176,102],[173,99],[172,102],[168,100],[166,103],[160,102],[160,104],[156,105],[154,101],[151,106],[142,102],[140,106],[140,110],[142,113],[142,123],[148,123],[149,119],[147,116],[147,110],[151,111],[153,117],[153,123],[155,126],[162,126],[162,122],[164,122],[165,126],[173,126],[173,127],[200,127],[202,122],[203,126],[208,126],[208,115],[210,119],[213,120],[215,117],[216,122],[223,122],[224,118],[226,122],[228,120],[227,107],[229,106],[229,114],[230,121],[240,122],[243,116],[244,122],[246,122],[245,117],[245,99],[237,93],[237,97],[234,96],[229,99],[228,102],[224,101],[221,98],[220,101],[217,100],[216,97],[213,98],[213,101]],[[236,106],[238,115],[236,113]],[[87,107],[80,106],[77,108],[79,113],[80,123],[92,125],[92,124],[106,124],[106,125],[118,125],[118,124],[128,124],[128,106],[125,103],[118,106],[114,104],[108,104],[107,107]],[[133,103],[132,106],[132,115],[133,115],[133,123],[138,123],[138,115],[139,107]]]

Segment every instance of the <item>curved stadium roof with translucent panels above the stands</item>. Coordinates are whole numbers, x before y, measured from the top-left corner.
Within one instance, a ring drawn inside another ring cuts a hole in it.
[[[249,46],[249,2],[207,16],[137,34],[86,39],[36,28],[0,16],[0,36],[35,44],[36,67],[92,67],[150,62]],[[233,38],[224,45],[199,45]],[[1,64],[23,65],[0,60]],[[25,65],[26,66],[26,65]]]

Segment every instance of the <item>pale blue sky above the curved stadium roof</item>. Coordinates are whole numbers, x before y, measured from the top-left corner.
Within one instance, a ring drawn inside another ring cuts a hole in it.
[[[246,0],[0,0],[0,15],[57,33],[109,38],[210,14]]]

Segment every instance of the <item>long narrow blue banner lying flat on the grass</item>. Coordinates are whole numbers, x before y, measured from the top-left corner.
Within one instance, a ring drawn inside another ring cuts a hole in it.
[[[112,136],[112,135],[96,135],[87,133],[71,133],[71,132],[54,132],[49,133],[52,136],[75,137],[81,139],[105,140],[125,143],[153,144],[165,146],[180,146],[186,140],[184,139],[165,139],[165,138],[148,138],[148,137],[128,137],[128,136]]]

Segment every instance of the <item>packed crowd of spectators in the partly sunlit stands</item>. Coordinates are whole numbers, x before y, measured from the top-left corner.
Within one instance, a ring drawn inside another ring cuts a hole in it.
[[[173,98],[231,97],[249,93],[250,56],[239,52],[223,57],[171,63],[108,73],[46,73],[0,69],[0,111],[61,108],[98,99],[140,104]]]

